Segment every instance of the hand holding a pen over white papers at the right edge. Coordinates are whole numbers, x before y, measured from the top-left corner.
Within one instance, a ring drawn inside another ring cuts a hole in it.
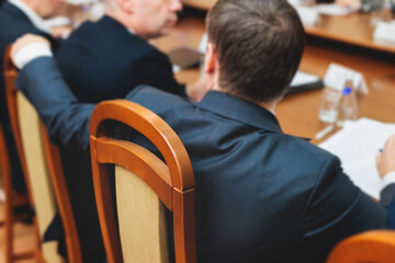
[[[395,135],[387,138],[383,152],[376,156],[376,165],[382,179],[385,174],[395,172]]]

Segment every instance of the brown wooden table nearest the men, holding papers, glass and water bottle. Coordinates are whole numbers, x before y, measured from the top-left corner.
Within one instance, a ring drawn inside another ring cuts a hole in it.
[[[182,18],[172,33],[154,41],[159,49],[169,52],[179,46],[198,48],[205,32],[202,16]],[[391,53],[357,49],[331,41],[309,37],[300,69],[324,77],[330,62],[337,62],[362,72],[370,92],[360,95],[359,116],[395,123],[395,56]],[[199,69],[177,73],[179,81],[191,83],[199,78]],[[313,138],[323,128],[318,119],[321,90],[286,96],[276,107],[276,116],[286,134]],[[317,142],[317,141],[313,141]]]

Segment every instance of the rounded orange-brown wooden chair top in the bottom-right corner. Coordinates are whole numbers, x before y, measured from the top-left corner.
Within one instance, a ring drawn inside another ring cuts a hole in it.
[[[393,263],[395,231],[370,230],[346,238],[330,252],[327,263]]]

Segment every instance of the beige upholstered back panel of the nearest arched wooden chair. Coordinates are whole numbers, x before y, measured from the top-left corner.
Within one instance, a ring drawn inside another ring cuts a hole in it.
[[[166,208],[132,171],[115,168],[116,207],[124,262],[169,262]]]

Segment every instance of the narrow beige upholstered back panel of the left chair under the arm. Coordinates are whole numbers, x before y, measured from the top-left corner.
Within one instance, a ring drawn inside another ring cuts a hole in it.
[[[38,232],[41,239],[43,239],[45,230],[57,213],[57,207],[45,158],[41,122],[35,108],[21,92],[16,94],[16,104],[22,147],[35,203]],[[57,253],[56,241],[43,243],[42,250],[44,259],[48,263],[63,262]]]

